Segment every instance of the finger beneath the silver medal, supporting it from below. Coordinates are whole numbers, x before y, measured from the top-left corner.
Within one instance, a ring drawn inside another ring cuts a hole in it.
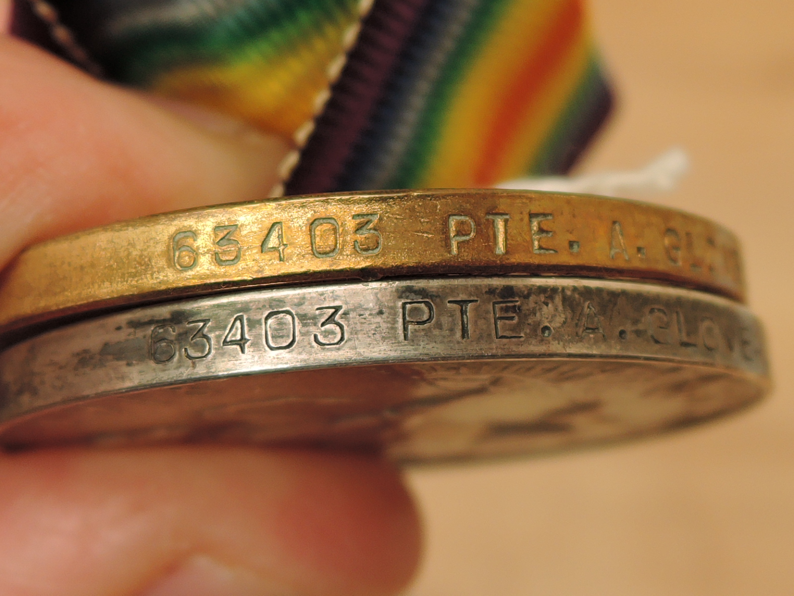
[[[174,447],[0,458],[0,594],[395,594],[418,557],[391,466]]]

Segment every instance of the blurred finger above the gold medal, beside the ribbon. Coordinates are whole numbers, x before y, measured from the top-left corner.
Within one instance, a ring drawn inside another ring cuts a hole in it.
[[[0,265],[88,226],[265,198],[287,153],[278,137],[176,114],[2,35],[0,79]]]

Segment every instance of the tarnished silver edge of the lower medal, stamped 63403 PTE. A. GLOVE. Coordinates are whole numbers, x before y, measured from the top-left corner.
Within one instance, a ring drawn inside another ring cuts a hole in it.
[[[754,315],[703,292],[578,278],[375,281],[232,292],[49,331],[0,354],[0,420],[236,375],[561,357],[768,375]]]

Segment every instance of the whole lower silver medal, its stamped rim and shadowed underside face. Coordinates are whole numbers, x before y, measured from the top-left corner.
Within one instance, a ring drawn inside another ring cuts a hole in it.
[[[682,288],[480,277],[271,288],[75,323],[0,354],[0,440],[234,440],[400,461],[680,428],[765,392],[742,305]]]

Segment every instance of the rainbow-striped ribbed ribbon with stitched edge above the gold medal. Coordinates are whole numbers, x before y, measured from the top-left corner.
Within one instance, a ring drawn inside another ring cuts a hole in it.
[[[611,106],[583,0],[17,0],[25,11],[110,79],[291,139],[291,194],[564,173]]]

